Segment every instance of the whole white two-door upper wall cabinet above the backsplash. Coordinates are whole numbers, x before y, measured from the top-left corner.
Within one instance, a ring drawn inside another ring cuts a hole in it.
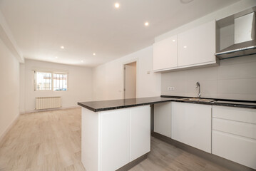
[[[171,71],[218,63],[215,55],[215,21],[153,44],[153,70]]]

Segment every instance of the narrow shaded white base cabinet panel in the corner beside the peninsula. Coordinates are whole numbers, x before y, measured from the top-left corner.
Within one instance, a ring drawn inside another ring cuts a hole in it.
[[[170,138],[171,102],[154,105],[154,132]]]

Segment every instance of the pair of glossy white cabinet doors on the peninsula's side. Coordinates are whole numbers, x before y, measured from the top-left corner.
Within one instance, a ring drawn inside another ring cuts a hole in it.
[[[150,152],[150,105],[99,115],[101,171],[118,170]]]

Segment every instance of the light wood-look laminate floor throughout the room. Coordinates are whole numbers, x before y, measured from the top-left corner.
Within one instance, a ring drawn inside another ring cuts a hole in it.
[[[85,170],[81,163],[81,108],[20,115],[0,142],[0,170]],[[156,138],[151,138],[148,158],[130,171],[138,170],[227,171]]]

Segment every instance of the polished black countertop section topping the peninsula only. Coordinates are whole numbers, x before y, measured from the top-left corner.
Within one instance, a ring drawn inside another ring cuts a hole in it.
[[[90,102],[79,102],[83,108],[92,110],[93,112],[99,112],[104,110],[113,110],[119,108],[130,108],[140,105],[152,105],[155,103],[163,103],[171,101],[172,98],[161,98],[161,97],[151,97],[151,98],[129,98],[120,100],[103,100],[103,101],[90,101]]]

